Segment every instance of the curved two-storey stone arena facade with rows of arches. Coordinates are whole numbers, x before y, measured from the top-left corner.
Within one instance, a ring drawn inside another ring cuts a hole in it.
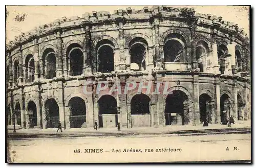
[[[97,120],[131,128],[250,119],[249,46],[238,25],[187,8],[62,17],[7,44],[8,125],[88,128]],[[127,81],[152,82],[153,90],[162,82],[172,94],[83,91],[87,81],[95,82],[87,91],[95,91],[100,81],[111,87],[117,79],[122,91]]]

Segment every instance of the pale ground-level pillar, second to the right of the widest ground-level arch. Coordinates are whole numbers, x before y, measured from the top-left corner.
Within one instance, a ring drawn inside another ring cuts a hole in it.
[[[219,77],[215,78],[215,122],[216,124],[220,124],[221,120],[221,96],[220,96],[220,80]]]

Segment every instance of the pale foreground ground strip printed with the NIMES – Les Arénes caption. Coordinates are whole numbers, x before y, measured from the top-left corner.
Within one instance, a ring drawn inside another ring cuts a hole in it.
[[[250,134],[41,138],[9,140],[9,151],[12,162],[250,160],[250,139]]]

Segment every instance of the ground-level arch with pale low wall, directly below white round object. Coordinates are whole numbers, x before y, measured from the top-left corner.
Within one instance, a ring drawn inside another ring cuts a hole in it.
[[[131,100],[132,127],[150,127],[150,98],[145,94],[136,94]]]

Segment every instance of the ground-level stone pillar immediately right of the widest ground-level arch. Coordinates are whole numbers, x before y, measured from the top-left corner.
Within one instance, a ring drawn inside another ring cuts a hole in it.
[[[199,76],[194,74],[193,76],[193,91],[194,91],[194,121],[193,125],[200,124],[200,108],[199,108]]]

